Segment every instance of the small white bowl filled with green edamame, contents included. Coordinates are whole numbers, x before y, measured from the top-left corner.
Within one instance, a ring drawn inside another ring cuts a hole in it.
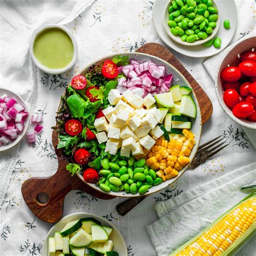
[[[166,5],[164,28],[179,44],[204,44],[217,34],[219,25],[218,8],[212,0],[171,0]]]

